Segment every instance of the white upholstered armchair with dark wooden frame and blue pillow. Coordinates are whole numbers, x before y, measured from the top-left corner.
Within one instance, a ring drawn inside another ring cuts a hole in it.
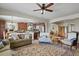
[[[60,40],[61,43],[70,46],[71,49],[72,46],[74,46],[77,49],[77,41],[78,41],[78,33],[76,32],[70,32],[68,33],[67,39]]]

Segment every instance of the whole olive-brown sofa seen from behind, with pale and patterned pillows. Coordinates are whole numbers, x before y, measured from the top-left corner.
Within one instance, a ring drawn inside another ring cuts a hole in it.
[[[31,34],[26,33],[12,33],[9,37],[10,48],[17,48],[24,45],[32,44]]]

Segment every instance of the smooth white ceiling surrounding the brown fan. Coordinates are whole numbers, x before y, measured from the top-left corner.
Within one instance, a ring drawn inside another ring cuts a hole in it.
[[[29,15],[44,20],[51,20],[79,13],[79,3],[54,3],[54,6],[50,7],[50,9],[53,9],[54,11],[51,13],[45,12],[43,15],[40,11],[33,11],[39,9],[35,3],[0,3],[0,10],[1,8],[10,10],[11,12],[23,13],[26,17]],[[4,12],[4,10],[2,11]]]

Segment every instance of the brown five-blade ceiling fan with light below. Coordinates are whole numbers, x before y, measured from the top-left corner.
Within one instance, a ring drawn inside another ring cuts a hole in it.
[[[44,3],[42,5],[40,5],[39,3],[37,3],[37,5],[40,7],[40,9],[34,10],[34,11],[39,11],[41,10],[41,14],[44,14],[45,11],[48,12],[53,12],[53,10],[48,9],[50,6],[54,5],[54,3],[49,3],[48,5],[45,5]]]

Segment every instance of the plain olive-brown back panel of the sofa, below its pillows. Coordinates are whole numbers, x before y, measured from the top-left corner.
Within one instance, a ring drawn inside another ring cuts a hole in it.
[[[29,45],[29,44],[32,44],[31,39],[13,40],[13,41],[10,41],[10,48],[13,49],[13,48],[17,48],[17,47]]]

